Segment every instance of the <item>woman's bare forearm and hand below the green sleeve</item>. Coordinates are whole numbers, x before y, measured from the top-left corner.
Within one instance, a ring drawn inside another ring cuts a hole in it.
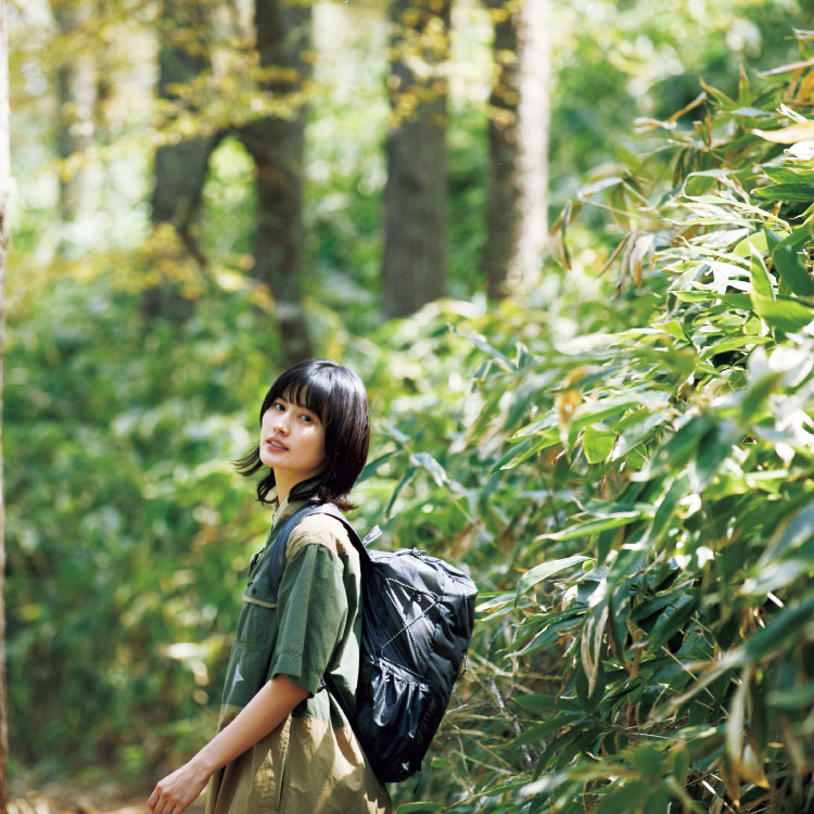
[[[180,814],[209,777],[277,728],[308,697],[307,689],[277,675],[189,763],[161,780],[148,800],[153,814]]]

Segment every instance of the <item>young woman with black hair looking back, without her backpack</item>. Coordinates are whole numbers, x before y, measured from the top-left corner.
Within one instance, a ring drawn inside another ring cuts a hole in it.
[[[243,593],[218,734],[158,783],[153,814],[180,814],[207,783],[207,814],[391,811],[340,704],[320,688],[330,671],[346,702],[356,691],[361,583],[344,526],[327,514],[305,518],[289,537],[276,596],[267,574],[276,533],[296,508],[352,508],[369,438],[361,381],[334,361],[296,365],[266,394],[259,444],[238,471],[268,467],[257,497],[276,508]]]

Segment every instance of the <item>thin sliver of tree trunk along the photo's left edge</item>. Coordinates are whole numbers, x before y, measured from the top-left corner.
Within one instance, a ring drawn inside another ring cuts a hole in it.
[[[5,251],[9,241],[9,33],[5,0],[0,0],[0,416],[2,416],[3,340],[5,336]],[[9,809],[9,723],[5,688],[5,509],[0,418],[0,814]]]

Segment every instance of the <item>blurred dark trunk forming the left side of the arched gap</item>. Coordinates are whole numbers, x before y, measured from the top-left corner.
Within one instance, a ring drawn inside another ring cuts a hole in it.
[[[171,104],[178,102],[176,86],[189,87],[212,67],[209,21],[206,4],[199,0],[164,0],[161,9],[157,96]],[[170,115],[168,124],[171,120]],[[198,240],[199,216],[209,156],[220,138],[220,133],[199,136],[155,151],[153,226],[173,226],[181,254],[186,251],[202,267],[206,257]],[[171,280],[164,280],[145,294],[149,316],[185,319],[191,309],[191,301],[181,296]]]

